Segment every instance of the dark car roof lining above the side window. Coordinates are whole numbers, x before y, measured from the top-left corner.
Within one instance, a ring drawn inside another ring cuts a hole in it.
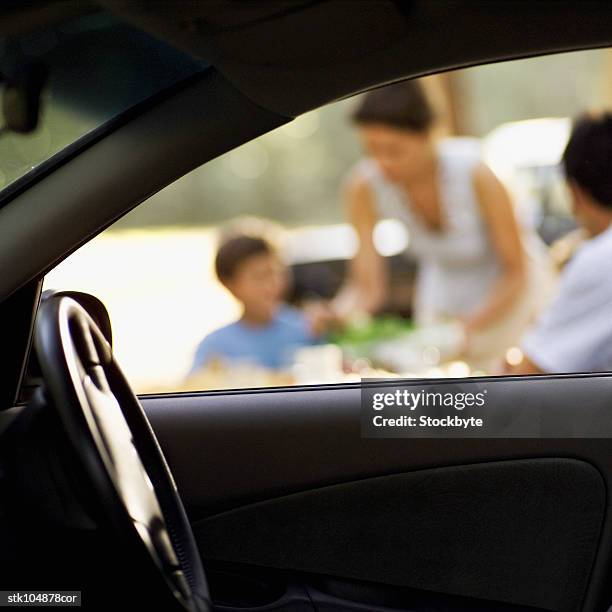
[[[103,4],[290,117],[398,79],[612,43],[611,3],[588,0]]]

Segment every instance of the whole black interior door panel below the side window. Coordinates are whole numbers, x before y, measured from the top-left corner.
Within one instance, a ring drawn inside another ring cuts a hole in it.
[[[503,389],[491,408],[502,416],[531,397],[588,421],[612,399],[605,375],[488,384]],[[605,438],[362,438],[351,385],[142,400],[209,567],[244,576],[246,564],[317,609],[384,610],[395,589],[394,609],[608,603]],[[371,600],[367,585],[380,590]],[[261,609],[284,609],[283,596]]]

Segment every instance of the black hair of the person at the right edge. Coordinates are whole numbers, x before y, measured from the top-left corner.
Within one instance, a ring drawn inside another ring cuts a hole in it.
[[[569,180],[612,208],[612,113],[583,115],[574,122],[563,166]]]

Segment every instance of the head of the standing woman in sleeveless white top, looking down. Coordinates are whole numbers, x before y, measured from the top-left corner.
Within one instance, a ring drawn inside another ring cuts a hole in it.
[[[434,113],[419,81],[402,81],[365,94],[352,119],[366,153],[389,180],[407,180],[427,163]]]

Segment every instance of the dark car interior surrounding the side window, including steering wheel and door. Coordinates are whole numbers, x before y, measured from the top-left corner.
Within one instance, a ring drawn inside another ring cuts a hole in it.
[[[612,609],[612,442],[597,431],[364,437],[362,390],[380,382],[137,393],[104,300],[43,287],[150,196],[244,143],[395,81],[612,47],[612,4],[8,2],[0,72],[30,119],[42,79],[11,70],[41,32],[81,45],[37,53],[61,95],[77,108],[82,96],[83,128],[0,191],[2,590],[80,591],[92,610]],[[132,51],[137,73],[87,68]],[[6,130],[27,131],[10,100],[4,114]],[[0,150],[4,164],[12,149]],[[312,269],[294,277],[298,301]],[[609,372],[427,384],[486,384],[502,421],[517,407],[605,418],[612,400]]]

